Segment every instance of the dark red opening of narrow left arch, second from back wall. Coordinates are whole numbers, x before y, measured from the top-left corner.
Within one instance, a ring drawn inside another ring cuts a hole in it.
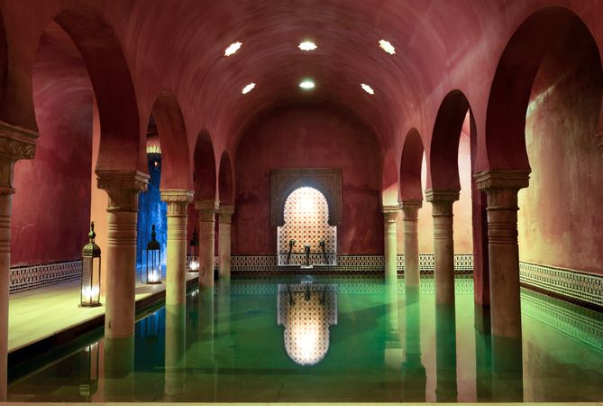
[[[215,156],[212,140],[206,131],[196,138],[195,145],[195,200],[215,201]]]

